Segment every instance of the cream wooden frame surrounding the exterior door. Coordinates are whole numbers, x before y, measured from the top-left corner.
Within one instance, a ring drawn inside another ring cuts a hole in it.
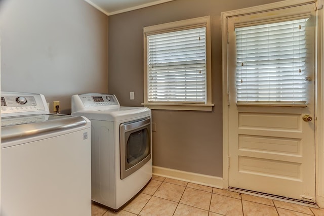
[[[316,38],[315,38],[315,188],[316,203],[324,207],[324,0],[286,0],[277,3],[255,6],[223,12],[222,24],[222,71],[223,71],[223,188],[228,189],[229,182],[229,94],[228,94],[228,67],[227,67],[227,19],[233,16],[258,13],[279,8],[297,6],[305,3],[316,2]]]

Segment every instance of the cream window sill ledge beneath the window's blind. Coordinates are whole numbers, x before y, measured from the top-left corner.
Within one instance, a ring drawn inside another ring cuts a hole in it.
[[[144,107],[161,110],[192,110],[192,111],[212,111],[214,104],[161,104],[142,103]]]

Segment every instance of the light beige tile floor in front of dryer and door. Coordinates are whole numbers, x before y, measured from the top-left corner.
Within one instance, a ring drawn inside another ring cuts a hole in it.
[[[92,216],[324,215],[324,209],[257,197],[153,176],[151,182],[118,212],[92,204]]]

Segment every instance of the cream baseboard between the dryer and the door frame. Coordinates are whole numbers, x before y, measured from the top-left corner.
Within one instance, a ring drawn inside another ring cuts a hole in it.
[[[223,178],[153,166],[153,175],[223,189]]]

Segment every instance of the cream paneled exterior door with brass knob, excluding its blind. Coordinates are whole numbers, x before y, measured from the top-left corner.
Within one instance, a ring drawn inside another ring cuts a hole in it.
[[[307,52],[307,64],[311,67],[304,73],[304,105],[241,105],[237,99],[235,34],[237,23],[251,26],[263,19],[292,17],[295,10],[302,14],[314,7],[309,4],[301,9],[228,18],[229,187],[315,202],[314,51]],[[309,19],[314,17],[310,15]]]

